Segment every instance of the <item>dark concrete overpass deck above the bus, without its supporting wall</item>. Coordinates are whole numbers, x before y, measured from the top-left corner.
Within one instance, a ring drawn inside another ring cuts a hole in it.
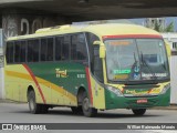
[[[1,0],[0,9],[24,8],[79,20],[177,16],[176,0]]]

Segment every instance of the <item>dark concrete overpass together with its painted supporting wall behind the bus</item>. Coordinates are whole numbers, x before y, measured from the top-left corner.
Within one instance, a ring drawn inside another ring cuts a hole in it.
[[[7,37],[73,21],[177,16],[176,0],[0,0]]]

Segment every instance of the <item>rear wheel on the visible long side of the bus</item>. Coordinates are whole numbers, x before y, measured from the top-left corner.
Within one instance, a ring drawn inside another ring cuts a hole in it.
[[[32,114],[41,113],[41,105],[35,102],[34,91],[30,91],[28,94],[29,109]]]

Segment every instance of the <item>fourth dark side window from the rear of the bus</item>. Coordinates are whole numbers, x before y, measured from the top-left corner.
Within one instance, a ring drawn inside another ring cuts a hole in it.
[[[28,41],[28,62],[39,61],[39,40]]]

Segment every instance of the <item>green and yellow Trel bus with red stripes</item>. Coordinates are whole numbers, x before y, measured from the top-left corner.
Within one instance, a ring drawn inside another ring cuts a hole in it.
[[[162,35],[140,25],[40,29],[7,40],[6,96],[34,114],[69,106],[85,116],[111,109],[143,115],[170,103],[168,55]]]

